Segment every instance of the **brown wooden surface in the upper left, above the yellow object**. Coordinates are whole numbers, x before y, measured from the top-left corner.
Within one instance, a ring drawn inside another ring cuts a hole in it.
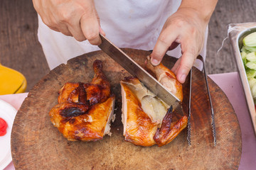
[[[27,91],[50,69],[38,42],[38,17],[32,1],[0,1],[0,62],[21,72]]]

